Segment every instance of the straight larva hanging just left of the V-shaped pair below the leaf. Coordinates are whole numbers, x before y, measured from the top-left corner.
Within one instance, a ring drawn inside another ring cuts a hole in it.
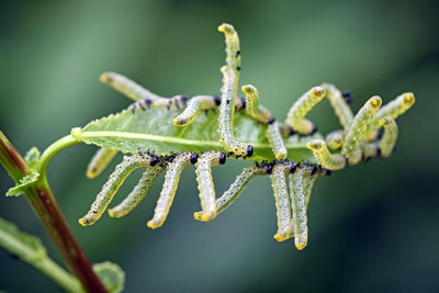
[[[154,217],[148,221],[147,226],[156,229],[164,225],[171,209],[177,187],[180,181],[181,171],[191,164],[191,153],[177,155],[166,168],[165,182],[158,198]]]

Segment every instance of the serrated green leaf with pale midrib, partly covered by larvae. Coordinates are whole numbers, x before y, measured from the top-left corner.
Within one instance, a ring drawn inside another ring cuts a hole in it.
[[[74,128],[71,135],[86,143],[108,149],[117,149],[122,153],[135,154],[138,149],[155,150],[158,155],[170,151],[224,151],[219,145],[217,133],[217,111],[201,114],[196,120],[184,127],[177,127],[172,120],[181,109],[167,109],[156,105],[143,110],[124,110],[117,114],[95,120],[86,127]],[[252,160],[271,160],[274,158],[271,146],[266,137],[267,125],[256,122],[251,117],[237,112],[234,121],[234,133],[238,140],[250,143],[255,148]],[[299,137],[290,136],[285,139],[289,159],[308,160],[315,162],[306,143],[314,138],[322,138],[319,134]]]

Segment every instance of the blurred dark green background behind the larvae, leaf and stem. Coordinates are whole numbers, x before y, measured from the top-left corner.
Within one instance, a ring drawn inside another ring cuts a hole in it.
[[[98,80],[124,74],[162,95],[217,93],[229,22],[240,34],[241,83],[251,82],[280,119],[313,86],[350,89],[357,111],[371,95],[404,91],[415,106],[398,120],[397,151],[320,180],[303,251],[278,244],[268,178],[251,182],[227,212],[199,223],[193,170],[183,172],[165,226],[150,230],[162,178],[132,214],[78,218],[111,172],[88,180],[95,150],[75,146],[48,168],[55,195],[91,261],[126,272],[125,292],[438,292],[439,4],[437,1],[76,1],[0,3],[0,128],[24,154],[130,101]],[[329,103],[311,114],[338,127]],[[215,169],[218,193],[243,162]],[[130,182],[135,182],[135,177]],[[12,181],[0,168],[0,194]],[[131,185],[132,187],[132,185]],[[125,184],[115,202],[130,191]],[[0,196],[0,216],[42,237],[23,198]],[[0,250],[0,290],[59,292]]]

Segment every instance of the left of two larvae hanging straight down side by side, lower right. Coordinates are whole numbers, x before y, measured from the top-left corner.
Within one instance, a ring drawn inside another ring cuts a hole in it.
[[[291,238],[291,209],[286,188],[285,174],[290,170],[290,164],[275,164],[270,174],[273,188],[275,214],[278,217],[278,232],[274,239],[278,241]]]

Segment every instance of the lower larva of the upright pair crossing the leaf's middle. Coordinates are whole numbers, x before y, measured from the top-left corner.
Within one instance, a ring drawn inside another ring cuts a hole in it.
[[[221,105],[219,105],[219,143],[225,150],[234,154],[235,156],[251,157],[254,148],[251,145],[236,140],[233,134],[233,120],[235,113],[235,100],[236,100],[236,88],[235,88],[235,74],[228,66],[221,68],[223,72],[223,88]]]

